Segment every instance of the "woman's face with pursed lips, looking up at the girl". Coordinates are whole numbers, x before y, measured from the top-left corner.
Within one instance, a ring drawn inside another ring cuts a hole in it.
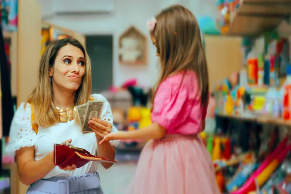
[[[76,91],[85,74],[85,64],[85,56],[81,49],[70,44],[62,47],[49,71],[53,87]]]

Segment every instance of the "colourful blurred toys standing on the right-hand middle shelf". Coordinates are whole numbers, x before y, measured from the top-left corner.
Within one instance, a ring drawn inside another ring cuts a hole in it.
[[[238,79],[234,73],[216,84],[217,114],[290,120],[286,101],[289,87],[286,76],[291,74],[287,40],[275,32],[266,32],[253,43],[244,39],[247,74],[240,73]]]

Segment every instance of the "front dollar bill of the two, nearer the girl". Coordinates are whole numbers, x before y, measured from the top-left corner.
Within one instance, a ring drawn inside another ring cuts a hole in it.
[[[82,128],[83,133],[94,132],[90,129],[88,121],[93,118],[101,118],[104,101],[88,101],[88,108],[85,114],[85,122]]]

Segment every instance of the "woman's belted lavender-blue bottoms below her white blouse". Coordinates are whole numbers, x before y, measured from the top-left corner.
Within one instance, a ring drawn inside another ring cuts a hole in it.
[[[58,177],[54,177],[58,178]],[[40,179],[32,183],[33,190],[51,194],[70,194],[96,189],[100,186],[100,179],[97,173],[90,173],[80,178],[60,177],[56,179]]]

